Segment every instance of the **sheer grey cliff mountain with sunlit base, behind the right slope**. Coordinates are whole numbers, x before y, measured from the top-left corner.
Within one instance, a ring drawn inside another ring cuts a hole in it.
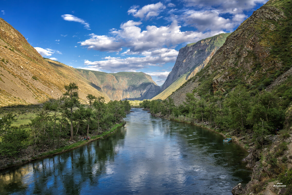
[[[173,69],[161,86],[161,93],[153,99],[165,99],[188,79],[196,75],[207,65],[215,52],[223,45],[230,33],[221,33],[187,44],[181,48]]]

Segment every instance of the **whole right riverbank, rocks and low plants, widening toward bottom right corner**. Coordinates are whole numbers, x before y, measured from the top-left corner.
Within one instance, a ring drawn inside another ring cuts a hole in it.
[[[143,110],[148,111],[147,109]],[[148,113],[150,113],[150,111]],[[203,127],[221,134],[225,138],[232,138],[235,144],[247,150],[249,154],[242,161],[247,163],[246,168],[252,170],[251,181],[248,182],[245,187],[241,183],[233,187],[233,195],[276,195],[289,194],[291,192],[291,184],[286,183],[285,187],[275,187],[274,185],[277,185],[278,182],[282,182],[279,177],[287,177],[286,180],[289,181],[290,176],[288,172],[289,169],[292,168],[292,129],[287,132],[282,132],[280,135],[266,136],[265,139],[267,141],[265,141],[263,147],[258,147],[253,142],[253,133],[248,130],[246,130],[248,133],[244,134],[244,136],[238,134],[232,135],[232,132],[222,132],[216,127],[212,129],[212,127],[208,126],[210,123],[208,121],[198,123],[198,121],[190,122],[186,120],[176,120],[175,118],[169,118],[159,113],[151,115]]]

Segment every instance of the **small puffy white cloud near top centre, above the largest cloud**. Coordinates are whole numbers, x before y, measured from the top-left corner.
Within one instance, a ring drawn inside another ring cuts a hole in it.
[[[132,6],[128,10],[128,14],[132,14],[135,18],[145,18],[148,20],[151,17],[158,16],[159,13],[166,8],[161,2],[149,4],[138,10],[138,6]]]

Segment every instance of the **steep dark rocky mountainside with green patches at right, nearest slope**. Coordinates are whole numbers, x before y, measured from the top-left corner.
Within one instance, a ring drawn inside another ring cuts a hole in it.
[[[206,67],[171,95],[175,103],[182,103],[187,92],[201,96],[220,90],[227,94],[238,84],[251,94],[266,88],[280,97],[291,94],[291,10],[291,1],[270,0],[254,11]],[[292,100],[289,95],[285,98],[287,103]]]

